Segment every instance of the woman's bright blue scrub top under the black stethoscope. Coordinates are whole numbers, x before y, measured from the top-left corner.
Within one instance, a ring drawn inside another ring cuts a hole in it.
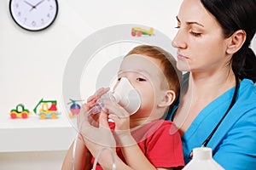
[[[186,163],[190,161],[190,151],[201,147],[224,116],[234,90],[231,88],[207,105],[183,134]],[[168,119],[171,120],[172,115],[173,111]],[[241,81],[236,104],[219,125],[207,147],[212,148],[213,159],[225,169],[256,169],[256,87],[251,80]]]

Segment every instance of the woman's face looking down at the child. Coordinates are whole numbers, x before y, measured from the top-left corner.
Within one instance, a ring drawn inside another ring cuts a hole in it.
[[[200,0],[183,0],[177,14],[177,28],[172,46],[177,48],[180,71],[211,73],[229,63],[222,28]]]

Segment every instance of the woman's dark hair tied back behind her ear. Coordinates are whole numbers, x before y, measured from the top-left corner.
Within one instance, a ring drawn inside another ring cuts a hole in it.
[[[232,69],[239,78],[256,81],[256,56],[250,48],[256,30],[256,0],[201,0],[205,8],[218,20],[224,36],[235,31],[246,32],[246,41],[233,55]]]

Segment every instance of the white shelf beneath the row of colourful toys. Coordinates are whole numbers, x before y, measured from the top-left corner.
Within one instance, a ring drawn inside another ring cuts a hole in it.
[[[11,119],[0,114],[0,153],[67,150],[76,134],[72,124],[66,115],[41,120],[36,115]]]

